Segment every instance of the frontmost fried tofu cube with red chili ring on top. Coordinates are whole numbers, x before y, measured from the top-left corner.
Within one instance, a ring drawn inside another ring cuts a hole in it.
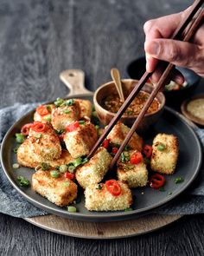
[[[100,183],[101,189],[97,184],[86,187],[85,207],[89,211],[118,211],[130,208],[132,204],[131,189],[121,181],[118,181],[118,185],[121,187],[121,194],[117,196],[112,195],[103,183]]]

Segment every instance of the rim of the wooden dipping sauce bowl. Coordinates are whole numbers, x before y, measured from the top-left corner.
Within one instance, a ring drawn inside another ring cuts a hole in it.
[[[121,81],[122,81],[122,82],[131,82],[131,81],[132,81],[132,82],[138,82],[137,79],[131,79],[131,78],[121,79]],[[99,88],[95,91],[95,93],[94,93],[94,95],[93,95],[93,103],[94,103],[94,105],[97,104],[97,106],[98,106],[100,109],[102,109],[105,113],[109,113],[109,114],[111,114],[111,115],[116,115],[116,113],[113,113],[113,112],[111,112],[111,111],[109,111],[109,110],[103,108],[103,107],[99,104],[99,102],[97,101],[97,95],[98,95],[98,93],[99,93],[99,90],[105,88],[106,86],[110,85],[111,83],[113,83],[113,81],[105,82],[105,83],[103,83],[102,85],[99,86]],[[146,82],[145,85],[151,86],[150,83],[148,83],[148,82]],[[143,90],[143,89],[141,89],[141,90]],[[148,93],[148,94],[149,94],[149,93]],[[158,100],[158,98],[157,98],[157,95],[156,95],[156,99],[157,99],[157,101],[159,102],[159,108],[158,108],[155,112],[145,114],[144,116],[156,115],[156,113],[158,113],[159,111],[161,111],[161,110],[164,108],[164,105],[165,105],[165,102],[166,102],[165,95],[163,94],[163,92],[159,92],[159,94],[162,96],[162,101],[160,102],[160,101]],[[150,94],[149,94],[149,95],[150,95]],[[126,115],[122,115],[123,118],[128,118],[128,119],[129,119],[129,118],[130,118],[130,119],[131,119],[131,118],[135,118],[136,116],[138,116],[138,115],[127,115],[127,116],[126,116]]]

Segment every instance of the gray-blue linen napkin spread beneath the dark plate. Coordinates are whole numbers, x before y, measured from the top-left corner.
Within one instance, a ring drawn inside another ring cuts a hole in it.
[[[39,103],[38,103],[39,104]],[[36,103],[22,105],[16,103],[12,107],[0,109],[0,143],[10,126],[22,115],[35,108]],[[196,134],[204,146],[204,129],[195,129]],[[45,211],[33,206],[16,192],[10,185],[7,177],[0,167],[0,213],[11,216],[26,218],[48,214]],[[204,213],[204,175],[203,167],[193,185],[185,191],[182,196],[173,200],[167,206],[154,210],[154,213],[165,214],[194,214]]]

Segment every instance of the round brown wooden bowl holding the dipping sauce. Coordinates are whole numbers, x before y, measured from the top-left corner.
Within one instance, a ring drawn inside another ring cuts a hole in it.
[[[133,79],[123,79],[121,82],[124,90],[124,96],[127,96],[133,89],[134,84],[138,81]],[[143,91],[146,93],[150,94],[152,89],[153,87],[148,83],[143,86]],[[93,96],[93,103],[99,116],[99,121],[101,121],[104,125],[109,124],[109,122],[112,121],[114,115],[116,115],[115,113],[112,113],[103,107],[105,98],[115,92],[116,88],[114,82],[106,82],[96,90]],[[152,124],[158,121],[160,115],[163,113],[165,104],[165,96],[163,93],[158,93],[156,95],[156,100],[159,102],[159,108],[154,113],[144,115],[143,120],[140,122],[139,127],[137,128],[138,133],[146,132]],[[122,115],[121,121],[123,121],[127,126],[131,127],[136,118],[137,115]]]

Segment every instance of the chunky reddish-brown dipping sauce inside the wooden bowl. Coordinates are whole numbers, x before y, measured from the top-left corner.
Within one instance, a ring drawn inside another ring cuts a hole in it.
[[[140,91],[137,97],[131,102],[131,105],[125,110],[124,115],[138,115],[149,96],[148,93]],[[104,108],[112,113],[117,113],[122,104],[123,102],[120,101],[118,94],[108,95],[103,101]],[[154,99],[146,113],[154,113],[158,108],[159,102]]]

